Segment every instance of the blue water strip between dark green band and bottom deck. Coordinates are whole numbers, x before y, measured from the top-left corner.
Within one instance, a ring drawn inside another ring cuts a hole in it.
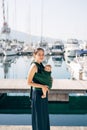
[[[31,114],[0,114],[0,117],[0,125],[31,125]],[[87,126],[87,114],[50,114],[49,118],[51,126]]]

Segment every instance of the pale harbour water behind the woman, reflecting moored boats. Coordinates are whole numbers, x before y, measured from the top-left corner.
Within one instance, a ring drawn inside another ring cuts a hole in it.
[[[27,78],[32,56],[1,56],[0,57],[0,78]],[[56,79],[70,78],[63,56],[46,56],[43,64],[51,64],[52,76]]]

